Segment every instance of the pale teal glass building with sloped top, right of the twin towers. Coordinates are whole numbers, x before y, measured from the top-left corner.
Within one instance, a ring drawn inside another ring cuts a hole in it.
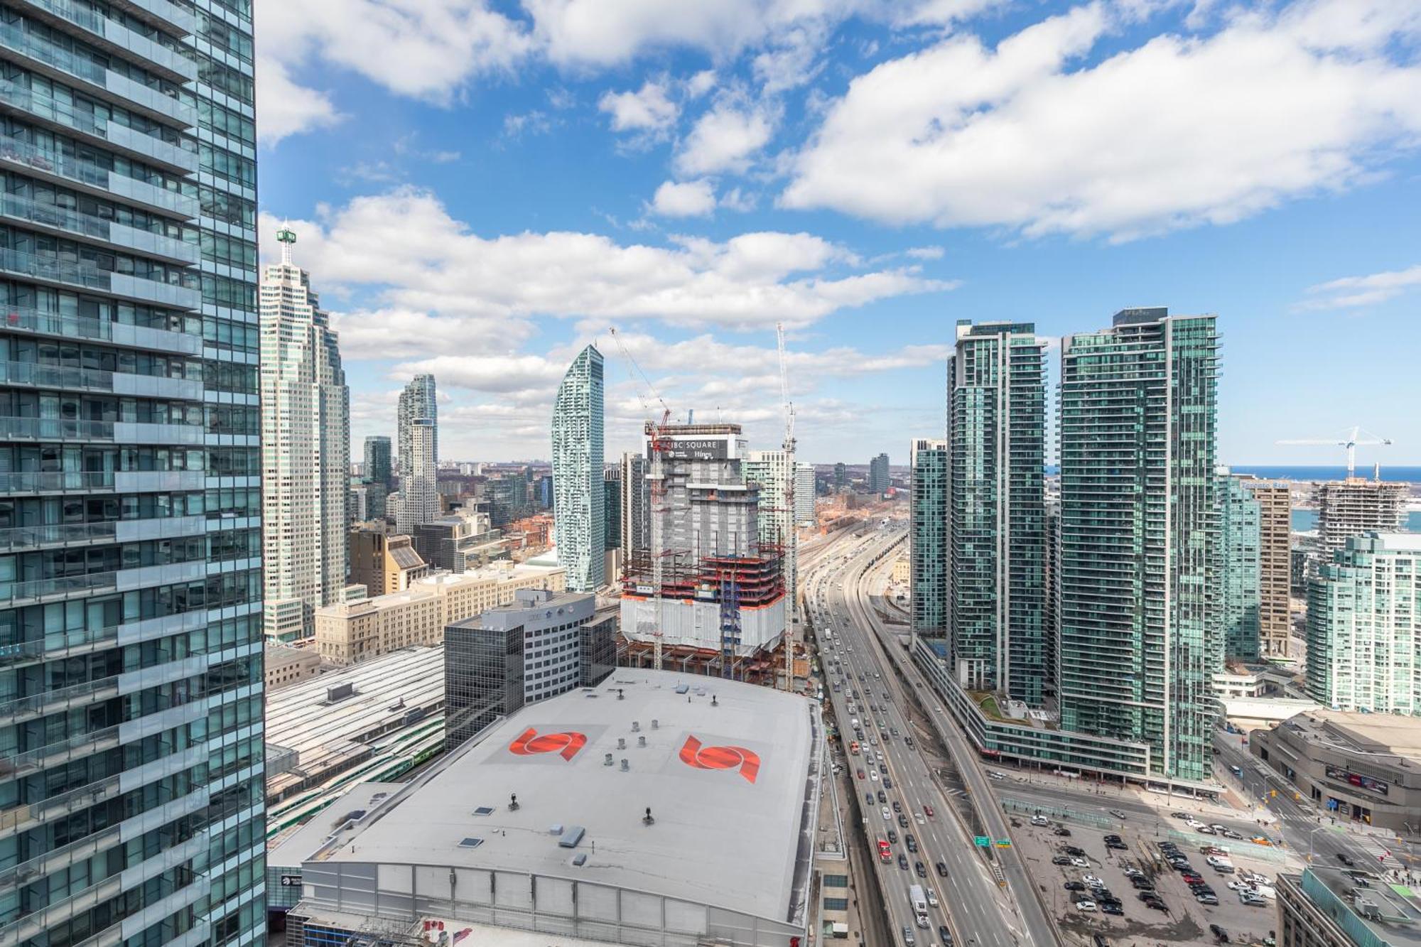
[[[1219,472],[1219,620],[1214,671],[1223,658],[1256,660],[1259,656],[1259,609],[1263,587],[1260,565],[1262,512],[1253,492],[1228,468]]]

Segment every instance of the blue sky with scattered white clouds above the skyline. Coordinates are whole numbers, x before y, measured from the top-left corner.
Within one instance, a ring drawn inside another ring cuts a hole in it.
[[[441,456],[659,417],[905,464],[956,320],[1216,313],[1219,459],[1421,462],[1415,0],[259,0],[264,260],[340,331],[354,454],[435,374]],[[612,331],[615,330],[615,333]],[[1054,371],[1053,371],[1054,375]]]

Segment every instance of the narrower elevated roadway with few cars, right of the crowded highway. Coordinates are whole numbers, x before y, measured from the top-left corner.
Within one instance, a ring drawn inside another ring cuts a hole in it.
[[[878,552],[887,550],[901,539],[902,532],[899,530],[895,536],[887,539],[880,546]],[[855,563],[851,563],[854,566],[850,576],[851,582],[845,582],[845,589],[850,592],[848,607],[854,616],[854,623],[860,628],[871,631],[872,646],[878,657],[884,661],[884,667],[897,667],[902,680],[912,681],[912,685],[926,710],[928,722],[932,724],[934,731],[952,755],[952,761],[956,765],[956,771],[963,781],[969,798],[976,803],[975,809],[985,828],[985,835],[990,836],[993,840],[1010,839],[1012,836],[1007,829],[1007,820],[996,801],[996,796],[993,795],[992,783],[982,769],[976,751],[962,734],[951,712],[942,707],[941,702],[938,702],[926,681],[924,681],[921,673],[912,664],[907,651],[898,646],[897,634],[890,631],[882,621],[880,621],[878,616],[868,604],[865,586],[870,576],[887,572],[891,567],[892,559],[891,556],[884,556],[878,563],[872,563],[874,557],[874,555],[865,555]],[[1036,884],[1032,880],[1026,865],[1017,856],[1016,849],[993,847],[992,852],[995,855],[996,865],[1002,872],[1002,877],[1006,882],[1007,889],[1012,892],[1015,911],[1010,916],[1010,923],[1013,924],[1013,933],[1016,930],[1025,931],[1025,934],[1019,936],[1019,943],[1025,941],[1030,944],[1040,944],[1042,947],[1060,943],[1060,931],[1056,921],[1042,906]]]

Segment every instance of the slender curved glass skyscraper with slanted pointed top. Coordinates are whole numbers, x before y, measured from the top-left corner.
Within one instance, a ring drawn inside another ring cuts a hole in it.
[[[603,353],[588,346],[563,375],[553,405],[553,532],[568,592],[595,592],[603,574]]]

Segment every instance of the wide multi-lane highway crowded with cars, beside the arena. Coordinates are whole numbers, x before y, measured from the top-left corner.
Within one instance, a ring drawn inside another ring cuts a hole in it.
[[[865,835],[874,840],[887,840],[888,830],[892,829],[898,838],[891,846],[892,859],[888,863],[878,862],[877,852],[872,853],[894,940],[904,941],[902,929],[907,926],[919,947],[938,944],[938,926],[948,923],[959,946],[1050,944],[1052,937],[1040,941],[1023,940],[1019,921],[983,857],[958,822],[955,809],[934,779],[926,759],[917,747],[909,748],[905,742],[905,737],[914,729],[904,712],[908,704],[897,675],[865,630],[863,616],[854,614],[851,620],[851,613],[857,613],[858,609],[853,606],[853,596],[845,596],[845,589],[854,592],[857,577],[863,574],[868,560],[891,545],[895,536],[901,536],[901,530],[875,532],[868,537],[845,537],[848,542],[836,543],[833,555],[826,552],[809,572],[801,573],[806,609],[813,620],[828,683],[827,697],[838,719],[840,732],[845,745],[851,742],[853,719],[857,718],[864,734],[861,744],[875,754],[871,765],[863,755],[845,756],[858,808],[865,818]],[[848,562],[843,560],[845,552],[851,555]],[[837,692],[833,690],[834,685],[838,687]],[[878,758],[882,758],[882,765],[888,771],[887,776],[891,781],[888,789],[884,789],[881,775],[877,781],[870,776],[870,772],[877,771]],[[863,779],[857,776],[860,769],[864,772]],[[880,789],[887,799],[888,819],[882,818],[885,806],[878,802]],[[871,793],[871,805],[865,793]],[[901,806],[908,822],[907,828],[901,825],[898,813],[892,812],[894,802]],[[932,810],[932,816],[926,815],[928,809]],[[905,833],[915,836],[919,846],[917,853],[908,852]],[[907,870],[899,867],[899,855],[907,859]],[[918,860],[924,863],[926,877],[917,876],[914,863]],[[946,866],[946,877],[935,869],[939,860]],[[932,887],[941,899],[942,907],[929,909],[928,930],[914,924],[914,911],[908,903],[911,884]]]

